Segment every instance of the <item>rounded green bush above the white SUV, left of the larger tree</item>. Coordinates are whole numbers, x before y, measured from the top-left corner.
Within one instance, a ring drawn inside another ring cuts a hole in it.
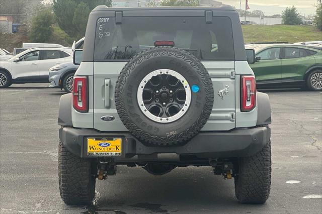
[[[49,42],[53,33],[52,25],[54,22],[54,16],[50,9],[38,11],[31,22],[29,40],[39,43]]]

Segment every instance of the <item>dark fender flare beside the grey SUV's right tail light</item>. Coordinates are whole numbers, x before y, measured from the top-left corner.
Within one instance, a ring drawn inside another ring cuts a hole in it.
[[[272,123],[271,103],[267,93],[257,92],[257,124],[268,125]]]

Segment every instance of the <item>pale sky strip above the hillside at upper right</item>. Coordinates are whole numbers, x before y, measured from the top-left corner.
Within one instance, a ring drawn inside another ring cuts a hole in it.
[[[218,0],[222,4],[234,6],[239,9],[240,0]],[[245,10],[245,0],[241,0],[241,9]],[[286,7],[296,7],[301,15],[315,14],[315,6],[317,0],[248,0],[248,5],[251,11],[261,10],[265,15],[282,14]]]

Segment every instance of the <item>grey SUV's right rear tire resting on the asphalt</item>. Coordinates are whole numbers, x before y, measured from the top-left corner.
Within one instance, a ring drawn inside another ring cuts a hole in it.
[[[265,203],[271,190],[271,141],[250,157],[238,158],[235,194],[240,203]]]

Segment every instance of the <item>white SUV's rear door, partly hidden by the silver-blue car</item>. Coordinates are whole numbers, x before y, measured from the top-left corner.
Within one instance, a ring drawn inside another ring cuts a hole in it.
[[[59,50],[41,50],[39,62],[39,75],[41,78],[48,80],[49,68],[54,65],[65,62],[64,55]],[[64,52],[63,52],[64,53]],[[66,54],[66,53],[65,53]],[[69,55],[68,55],[69,56]]]

